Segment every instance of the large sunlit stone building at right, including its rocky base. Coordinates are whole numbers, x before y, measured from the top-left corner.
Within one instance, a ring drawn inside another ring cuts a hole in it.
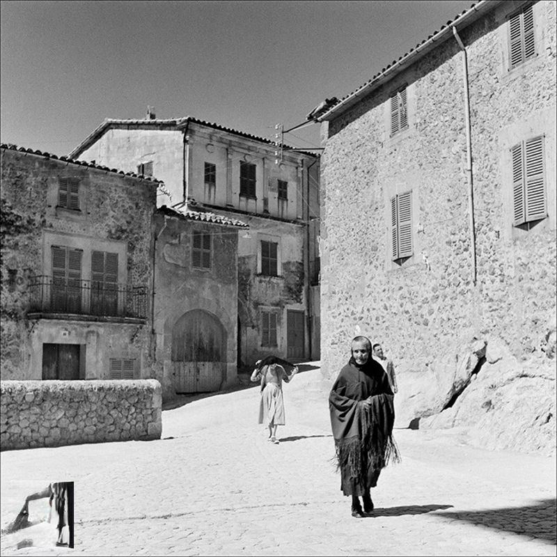
[[[480,1],[318,118],[324,373],[382,342],[403,427],[554,451],[556,6]]]

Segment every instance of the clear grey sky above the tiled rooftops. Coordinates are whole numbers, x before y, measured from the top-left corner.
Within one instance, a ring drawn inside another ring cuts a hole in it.
[[[1,1],[0,139],[67,155],[104,118],[194,116],[272,139],[471,1]],[[319,146],[319,125],[285,143]]]

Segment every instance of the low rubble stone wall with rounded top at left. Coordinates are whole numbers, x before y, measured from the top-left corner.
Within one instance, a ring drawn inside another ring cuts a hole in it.
[[[136,381],[3,381],[2,450],[160,439],[161,385]]]

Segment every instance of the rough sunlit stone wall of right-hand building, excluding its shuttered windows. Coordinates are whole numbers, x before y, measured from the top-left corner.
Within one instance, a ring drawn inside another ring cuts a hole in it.
[[[531,407],[535,397],[528,395],[524,409],[533,416],[515,418],[521,424],[515,433],[528,435],[522,425],[538,415],[554,431],[555,409],[545,400],[555,391],[556,4],[534,4],[538,56],[509,71],[507,17],[520,5],[503,3],[459,30],[469,61],[476,284],[462,52],[455,40],[329,122],[322,159],[322,369],[336,376],[356,334],[383,343],[400,377],[395,402],[402,427],[472,389],[471,377],[489,368],[481,358],[466,379],[458,377],[462,359],[480,342],[504,348],[513,381],[524,379],[521,373],[537,377],[528,393],[537,389],[544,408]],[[409,127],[391,137],[389,96],[404,85]],[[548,217],[530,230],[516,228],[510,148],[542,134]],[[390,200],[409,190],[414,253],[397,263],[390,253]],[[485,398],[477,402],[479,422],[494,407]]]

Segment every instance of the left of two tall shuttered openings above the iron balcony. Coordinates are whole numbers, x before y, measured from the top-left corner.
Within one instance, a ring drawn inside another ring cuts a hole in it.
[[[81,311],[81,256],[83,250],[52,246],[52,308]]]

